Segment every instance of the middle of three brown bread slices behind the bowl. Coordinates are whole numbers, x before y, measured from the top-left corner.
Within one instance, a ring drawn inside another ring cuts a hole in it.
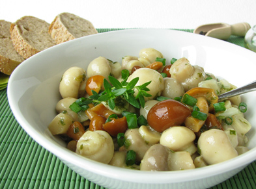
[[[16,51],[23,57],[29,58],[36,53],[55,45],[48,34],[50,23],[24,16],[10,26],[10,36]]]

